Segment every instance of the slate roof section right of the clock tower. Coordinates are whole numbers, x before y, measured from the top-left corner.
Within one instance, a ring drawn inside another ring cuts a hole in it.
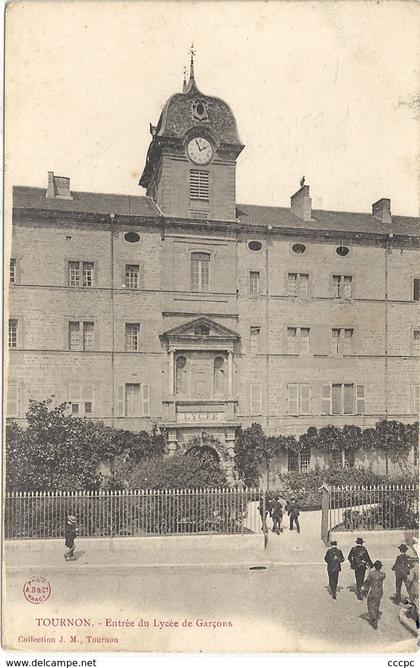
[[[374,234],[402,234],[420,237],[420,218],[392,216],[392,223],[382,223],[369,213],[349,211],[322,211],[314,209],[312,220],[305,222],[295,216],[290,209],[276,206],[238,204],[237,215],[241,223],[249,225],[272,225],[305,230],[330,230],[338,232],[371,232]]]

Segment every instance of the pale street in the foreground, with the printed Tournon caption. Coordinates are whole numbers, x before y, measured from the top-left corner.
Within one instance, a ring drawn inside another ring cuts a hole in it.
[[[415,640],[399,623],[398,606],[390,601],[389,565],[385,570],[383,614],[375,631],[366,620],[366,601],[358,601],[349,589],[353,573],[347,565],[333,601],[321,564],[267,563],[265,570],[114,564],[73,571],[46,564],[43,575],[51,584],[51,596],[42,605],[30,605],[22,596],[31,568],[7,576],[7,644],[20,636],[24,649],[30,636],[37,636],[56,642],[62,638],[63,649],[102,651],[414,650]],[[53,628],[53,618],[61,618],[64,625]],[[66,626],[66,619],[75,626]],[[75,619],[88,620],[90,626],[78,628],[82,622]],[[54,650],[54,645],[38,643],[39,650]]]

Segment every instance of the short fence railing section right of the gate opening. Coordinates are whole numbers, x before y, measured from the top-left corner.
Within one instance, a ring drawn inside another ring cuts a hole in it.
[[[416,484],[327,489],[329,531],[418,528],[419,489]]]

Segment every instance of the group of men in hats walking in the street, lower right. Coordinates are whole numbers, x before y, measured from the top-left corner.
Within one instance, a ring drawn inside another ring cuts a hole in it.
[[[379,560],[372,562],[369,552],[363,543],[363,538],[357,538],[356,545],[349,552],[348,561],[355,575],[357,598],[362,601],[365,596],[367,597],[369,623],[374,629],[377,629],[379,606],[384,593],[383,583],[386,575],[382,570],[382,563]],[[337,547],[336,540],[332,540],[330,545],[331,547],[327,550],[324,561],[327,564],[329,588],[335,600],[337,598],[337,585],[341,564],[345,559],[342,551]],[[416,604],[414,589],[417,583],[417,575],[414,567],[417,560],[407,555],[408,547],[404,543],[398,549],[400,554],[397,556],[392,567],[395,573],[394,600],[397,603],[401,601],[401,587],[404,583],[409,600]],[[365,577],[367,569],[369,569],[369,572],[367,577]]]

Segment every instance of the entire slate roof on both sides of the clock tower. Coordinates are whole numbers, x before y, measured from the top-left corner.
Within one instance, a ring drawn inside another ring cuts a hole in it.
[[[49,209],[87,213],[115,213],[127,216],[160,218],[161,213],[150,197],[113,195],[72,191],[73,199],[47,198],[45,188],[15,186],[13,206],[28,209]],[[297,230],[336,231],[350,233],[393,234],[420,237],[420,218],[392,216],[392,223],[381,223],[369,213],[322,211],[314,209],[312,220],[305,222],[286,207],[238,204],[237,216],[243,225],[255,227],[295,228]]]

